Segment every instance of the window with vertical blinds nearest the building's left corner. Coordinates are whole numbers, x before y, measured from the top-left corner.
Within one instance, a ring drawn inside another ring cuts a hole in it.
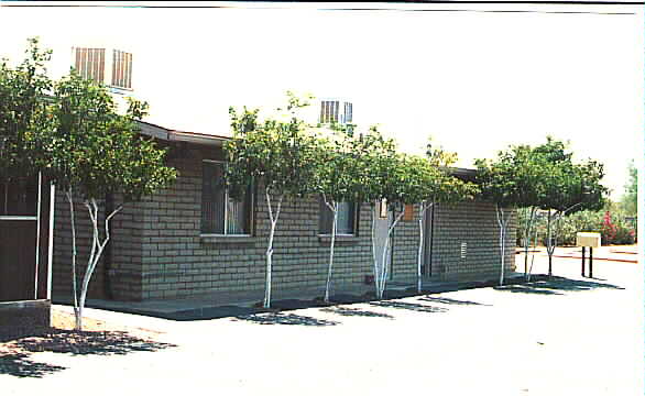
[[[251,234],[253,194],[250,187],[240,201],[231,199],[223,184],[223,163],[205,161],[201,187],[201,233]]]

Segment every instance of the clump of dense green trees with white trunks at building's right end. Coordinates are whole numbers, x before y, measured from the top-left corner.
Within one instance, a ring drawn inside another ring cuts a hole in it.
[[[496,204],[500,224],[500,246],[502,251],[502,271],[500,285],[504,276],[504,251],[509,219],[504,207],[526,208],[527,223],[525,237],[525,272],[529,235],[537,209],[547,210],[547,253],[549,255],[549,275],[555,250],[554,222],[562,216],[583,209],[602,207],[606,188],[600,185],[603,177],[602,164],[589,160],[573,164],[573,154],[567,151],[567,144],[547,136],[545,144],[536,147],[528,145],[510,146],[500,152],[496,161],[477,160],[482,195]],[[529,271],[527,272],[527,275]]]

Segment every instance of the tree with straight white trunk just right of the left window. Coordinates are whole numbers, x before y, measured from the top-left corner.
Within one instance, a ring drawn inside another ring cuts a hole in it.
[[[233,138],[225,143],[225,178],[230,196],[237,199],[251,183],[256,183],[266,198],[271,230],[265,253],[265,308],[271,306],[273,239],[283,200],[315,191],[313,184],[320,158],[319,138],[297,117],[297,111],[308,106],[307,100],[291,92],[287,98],[286,120],[276,114],[260,121],[258,109],[243,108],[238,112],[230,108]]]

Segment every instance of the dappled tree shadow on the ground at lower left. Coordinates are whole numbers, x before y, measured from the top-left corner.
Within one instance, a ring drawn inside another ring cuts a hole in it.
[[[124,355],[132,352],[155,352],[176,346],[129,336],[123,331],[53,330],[37,337],[10,341],[0,349],[0,374],[18,377],[43,377],[66,367],[31,361],[35,352],[72,355]]]

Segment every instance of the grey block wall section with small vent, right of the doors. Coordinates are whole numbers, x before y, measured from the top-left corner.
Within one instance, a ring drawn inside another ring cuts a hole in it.
[[[495,278],[501,271],[495,206],[487,202],[435,206],[431,276],[437,279]],[[516,213],[506,235],[505,272],[515,271]],[[466,251],[462,254],[462,243]]]

